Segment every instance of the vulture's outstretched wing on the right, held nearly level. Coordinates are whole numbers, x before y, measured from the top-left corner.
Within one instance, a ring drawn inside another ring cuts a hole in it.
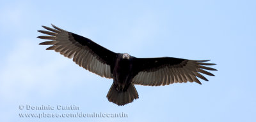
[[[209,60],[186,60],[182,58],[134,58],[135,76],[132,80],[134,85],[160,86],[172,83],[186,83],[187,81],[200,83],[196,78],[208,81],[202,74],[214,76],[210,72],[216,71],[204,65],[215,65],[205,63]]]

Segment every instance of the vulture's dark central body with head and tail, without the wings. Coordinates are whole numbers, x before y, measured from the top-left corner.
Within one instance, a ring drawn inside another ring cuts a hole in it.
[[[132,102],[139,95],[132,84],[134,69],[132,67],[132,57],[124,58],[124,55],[118,53],[113,69],[113,85],[108,92],[108,100],[118,105],[124,105]],[[129,56],[129,55],[128,55]]]

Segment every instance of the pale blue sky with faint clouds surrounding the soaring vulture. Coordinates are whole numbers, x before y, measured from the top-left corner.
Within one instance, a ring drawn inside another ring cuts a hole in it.
[[[1,121],[256,121],[255,1],[1,1]],[[113,82],[40,46],[54,24],[134,57],[211,59],[209,82],[139,86],[139,99],[108,102]],[[77,105],[29,111],[20,105]],[[20,113],[104,112],[128,118],[20,118]]]

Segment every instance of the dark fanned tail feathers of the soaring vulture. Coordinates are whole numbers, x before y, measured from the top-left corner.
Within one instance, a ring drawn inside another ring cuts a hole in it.
[[[125,92],[118,92],[113,83],[111,88],[109,89],[107,97],[110,102],[113,102],[117,105],[125,105],[129,104],[134,99],[139,98],[139,95],[132,83]]]

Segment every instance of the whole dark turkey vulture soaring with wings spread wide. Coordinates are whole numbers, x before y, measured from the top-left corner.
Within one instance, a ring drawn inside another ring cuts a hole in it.
[[[60,29],[42,26],[38,30],[48,36],[38,36],[49,39],[40,43],[51,45],[46,50],[55,50],[68,58],[73,58],[77,65],[104,78],[113,78],[113,84],[108,92],[108,100],[117,105],[125,105],[139,98],[134,85],[164,86],[172,83],[196,82],[198,78],[208,81],[202,74],[214,76],[209,71],[217,71],[204,65],[209,60],[188,60],[182,58],[136,58],[127,53],[115,53],[83,36]],[[204,70],[205,69],[205,70]],[[198,78],[197,78],[198,77]]]

